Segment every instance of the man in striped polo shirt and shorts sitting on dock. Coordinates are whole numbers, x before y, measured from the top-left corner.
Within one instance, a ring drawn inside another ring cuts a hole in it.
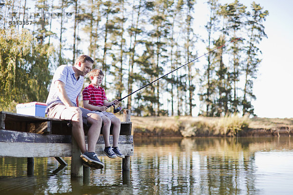
[[[100,136],[102,119],[99,115],[79,108],[76,99],[79,96],[84,76],[91,70],[94,61],[86,55],[78,57],[73,66],[61,65],[57,68],[46,101],[48,117],[71,120],[72,134],[83,153],[84,166],[93,169],[104,168],[104,163],[95,153],[95,146]],[[84,140],[83,123],[90,123],[88,131],[88,150]]]

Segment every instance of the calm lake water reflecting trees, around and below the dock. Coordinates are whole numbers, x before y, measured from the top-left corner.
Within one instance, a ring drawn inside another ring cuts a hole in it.
[[[0,157],[0,194],[293,194],[292,137],[135,138],[130,171],[121,158],[100,157],[104,169],[75,179],[63,159],[61,169],[55,158],[35,158],[27,176],[27,158]]]

